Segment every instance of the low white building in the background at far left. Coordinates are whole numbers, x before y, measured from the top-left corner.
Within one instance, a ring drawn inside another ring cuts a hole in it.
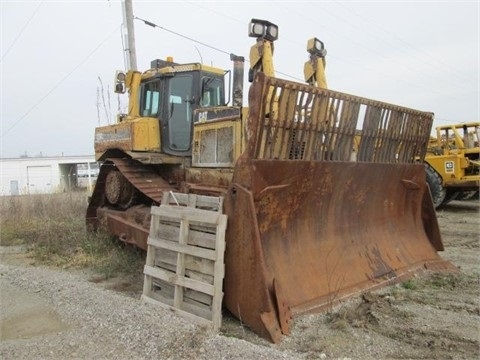
[[[0,195],[53,193],[91,187],[99,166],[93,156],[0,159]]]

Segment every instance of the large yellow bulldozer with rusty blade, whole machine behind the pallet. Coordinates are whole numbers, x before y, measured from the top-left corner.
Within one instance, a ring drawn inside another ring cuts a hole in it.
[[[103,165],[88,226],[146,249],[150,207],[164,192],[222,196],[224,306],[275,343],[295,314],[425,269],[454,270],[437,253],[435,209],[416,161],[433,114],[328,90],[324,59],[313,63],[324,56],[319,41],[308,45],[314,81],[276,78],[278,27],[252,19],[249,36],[248,108],[239,56],[233,74],[172,59],[117,73],[128,114],[95,129]]]

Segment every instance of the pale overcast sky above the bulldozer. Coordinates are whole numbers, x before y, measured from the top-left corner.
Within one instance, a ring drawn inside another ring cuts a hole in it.
[[[158,25],[134,21],[139,70],[167,56],[232,69],[265,19],[279,26],[277,77],[304,82],[317,37],[330,89],[433,112],[434,127],[480,121],[479,0],[133,0],[133,13]],[[95,127],[127,102],[112,91],[122,22],[121,1],[0,0],[0,157],[94,154]]]

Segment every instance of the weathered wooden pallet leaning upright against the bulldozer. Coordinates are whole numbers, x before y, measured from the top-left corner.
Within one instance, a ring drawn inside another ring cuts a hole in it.
[[[222,197],[169,192],[152,207],[142,295],[214,330],[222,322],[222,205]]]

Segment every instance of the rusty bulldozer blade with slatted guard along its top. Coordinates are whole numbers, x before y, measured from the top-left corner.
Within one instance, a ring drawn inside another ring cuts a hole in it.
[[[432,114],[262,74],[249,104],[225,199],[225,305],[243,323],[279,342],[292,314],[455,269],[417,161]]]

